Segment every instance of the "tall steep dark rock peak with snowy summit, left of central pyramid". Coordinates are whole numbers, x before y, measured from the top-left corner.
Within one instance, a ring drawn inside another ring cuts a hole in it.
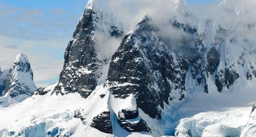
[[[122,23],[114,15],[101,12],[98,0],[90,0],[66,48],[64,67],[54,92],[78,92],[87,98],[101,83],[99,79],[106,79],[103,67],[108,67],[112,56],[101,56],[97,37],[116,38],[123,32]]]

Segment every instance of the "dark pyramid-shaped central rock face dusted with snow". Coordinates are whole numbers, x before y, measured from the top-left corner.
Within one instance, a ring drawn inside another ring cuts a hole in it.
[[[108,71],[109,91],[116,98],[134,94],[137,106],[152,118],[161,118],[163,102],[182,100],[189,62],[159,41],[158,28],[145,16],[127,34],[112,56]]]

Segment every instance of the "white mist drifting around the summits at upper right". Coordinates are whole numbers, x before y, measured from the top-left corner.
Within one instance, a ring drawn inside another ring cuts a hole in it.
[[[174,19],[184,25],[191,25],[190,27],[195,28],[199,35],[214,35],[220,25],[228,31],[229,36],[236,34],[249,39],[252,43],[256,42],[256,1],[225,0],[207,4],[187,4],[183,3],[183,0],[177,2],[178,0],[108,0],[101,1],[104,5],[101,7],[104,7],[104,11],[114,13],[124,23],[125,33],[133,30],[145,15],[149,15],[160,30],[158,36],[168,41],[168,47],[173,50],[180,50],[177,45],[181,38],[193,41],[194,37],[193,34],[174,27],[171,24]],[[206,30],[206,20],[211,21],[210,30]],[[208,43],[205,44],[210,46],[214,37],[209,35],[208,38]],[[120,40],[114,41],[117,43]],[[187,43],[187,46],[193,46],[193,42]],[[187,56],[194,56],[194,53],[183,52]]]

